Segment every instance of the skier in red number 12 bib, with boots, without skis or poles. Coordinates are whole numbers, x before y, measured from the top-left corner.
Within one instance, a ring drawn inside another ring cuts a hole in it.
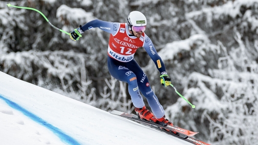
[[[171,78],[165,65],[158,55],[151,39],[144,33],[147,25],[146,17],[139,11],[132,11],[127,17],[127,23],[92,20],[70,33],[70,38],[78,40],[86,30],[99,28],[110,33],[108,43],[108,71],[116,79],[128,83],[128,91],[137,115],[151,122],[173,124],[165,118],[165,111],[157,96],[153,93],[146,74],[133,58],[139,47],[144,47],[160,72],[161,84],[165,87],[171,84]],[[145,107],[143,98],[147,98],[152,112]]]

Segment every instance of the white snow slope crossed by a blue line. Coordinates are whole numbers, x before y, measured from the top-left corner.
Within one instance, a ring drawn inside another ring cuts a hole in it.
[[[0,72],[0,145],[192,145]]]

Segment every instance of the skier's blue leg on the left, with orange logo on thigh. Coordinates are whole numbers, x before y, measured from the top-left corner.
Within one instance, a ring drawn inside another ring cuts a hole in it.
[[[136,76],[126,68],[125,63],[108,57],[108,71],[115,79],[128,83],[128,91],[134,107],[142,108],[145,106],[138,89]]]

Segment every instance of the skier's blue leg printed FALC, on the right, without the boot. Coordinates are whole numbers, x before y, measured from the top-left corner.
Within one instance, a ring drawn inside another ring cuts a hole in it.
[[[159,103],[157,96],[153,93],[146,74],[134,59],[127,63],[127,67],[135,73],[139,90],[147,98],[153,114],[156,116],[156,118],[162,118],[165,111],[162,105]]]

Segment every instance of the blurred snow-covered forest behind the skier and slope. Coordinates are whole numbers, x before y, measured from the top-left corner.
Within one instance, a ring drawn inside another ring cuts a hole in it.
[[[130,11],[141,11],[172,84],[196,107],[161,86],[138,49],[135,59],[173,124],[213,145],[258,145],[257,0],[0,1],[1,72],[106,111],[132,112],[126,84],[108,72],[108,33],[92,29],[74,42],[41,14],[7,3],[38,9],[66,32],[93,19],[126,22]]]

